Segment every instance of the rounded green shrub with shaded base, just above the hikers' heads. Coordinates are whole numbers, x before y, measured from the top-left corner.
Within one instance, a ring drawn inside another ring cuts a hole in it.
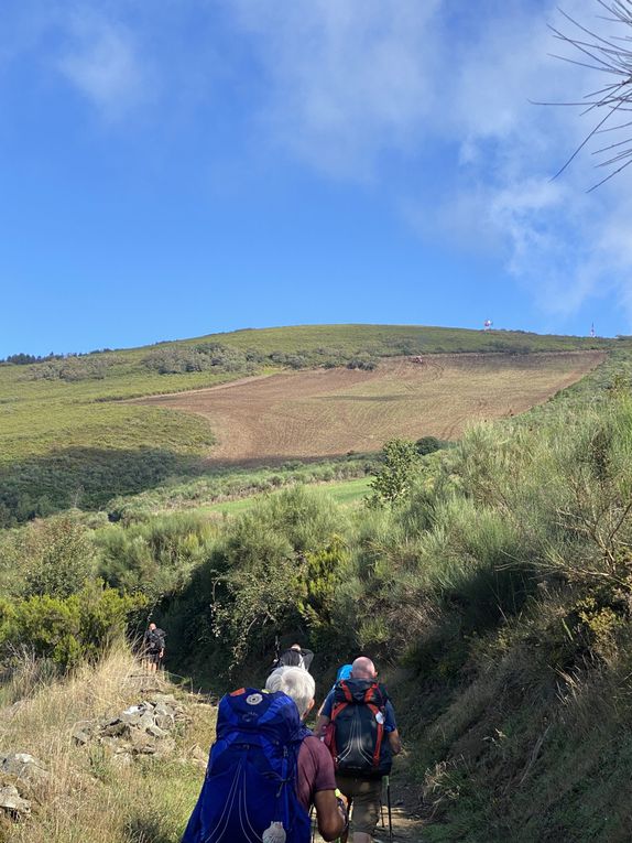
[[[190,617],[192,606],[199,612],[181,627],[190,638],[178,646],[186,649],[192,639],[219,646],[228,664],[237,664],[250,653],[270,653],[282,630],[314,633],[317,640],[348,573],[344,526],[331,501],[303,487],[259,501],[228,522],[208,562],[171,604],[170,617]],[[205,637],[209,630],[213,641]]]

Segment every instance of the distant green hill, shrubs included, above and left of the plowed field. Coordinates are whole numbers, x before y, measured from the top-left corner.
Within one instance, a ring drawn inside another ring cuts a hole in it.
[[[199,415],[129,399],[209,388],[243,377],[340,368],[370,374],[383,358],[435,354],[608,350],[618,341],[399,325],[244,329],[0,365],[0,523],[59,508],[103,506],[115,495],[208,469],[221,431]],[[586,370],[586,369],[585,369]],[[581,372],[579,372],[581,374]],[[560,388],[564,377],[555,386]],[[545,390],[543,397],[548,395]],[[536,399],[541,400],[541,399]],[[504,412],[508,412],[505,406]],[[501,413],[502,414],[502,413]],[[381,435],[373,429],[374,447]],[[344,453],[345,447],[325,453]],[[287,455],[287,452],[285,452]]]

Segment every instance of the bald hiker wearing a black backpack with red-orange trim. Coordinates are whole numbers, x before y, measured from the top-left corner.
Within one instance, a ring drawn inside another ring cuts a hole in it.
[[[316,735],[325,738],[339,790],[352,801],[353,843],[371,843],[380,817],[382,778],[402,750],[395,712],[375,666],[363,656],[323,704]]]

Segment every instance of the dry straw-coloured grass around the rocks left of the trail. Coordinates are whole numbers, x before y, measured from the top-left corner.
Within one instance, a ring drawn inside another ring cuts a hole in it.
[[[78,721],[113,715],[140,702],[139,672],[120,647],[99,666],[63,681],[40,682],[25,699],[0,710],[0,753],[31,753],[50,774],[32,789],[30,819],[2,821],[2,843],[179,841],[204,775],[189,750],[195,743],[210,743],[209,706],[190,705],[193,722],[177,735],[173,758],[126,764],[101,746],[76,746],[72,738]]]

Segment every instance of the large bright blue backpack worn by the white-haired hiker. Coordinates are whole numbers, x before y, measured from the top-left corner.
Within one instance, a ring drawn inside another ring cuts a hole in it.
[[[282,822],[287,843],[309,843],[296,767],[310,732],[282,691],[242,688],[219,703],[217,739],[182,843],[261,843]]]

